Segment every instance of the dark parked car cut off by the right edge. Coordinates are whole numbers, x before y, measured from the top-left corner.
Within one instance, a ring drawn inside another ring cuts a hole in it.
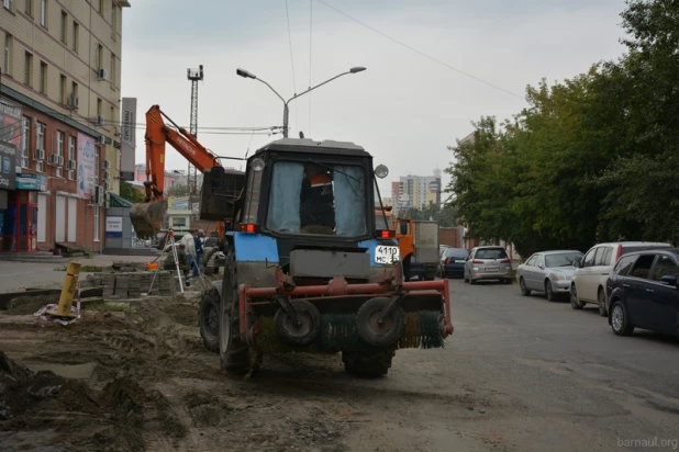
[[[613,332],[630,336],[636,327],[679,336],[677,279],[677,249],[623,256],[606,281],[606,308]]]

